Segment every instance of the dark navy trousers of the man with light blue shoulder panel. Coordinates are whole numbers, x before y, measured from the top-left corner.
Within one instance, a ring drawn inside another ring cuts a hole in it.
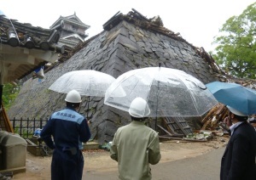
[[[51,161],[51,180],[81,180],[83,177],[84,156],[54,150]]]

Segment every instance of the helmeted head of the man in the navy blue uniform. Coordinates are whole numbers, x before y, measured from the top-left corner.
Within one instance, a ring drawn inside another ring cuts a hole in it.
[[[67,102],[67,107],[79,108],[79,105],[82,102],[82,99],[78,91],[71,90],[70,92],[67,93],[65,101]]]

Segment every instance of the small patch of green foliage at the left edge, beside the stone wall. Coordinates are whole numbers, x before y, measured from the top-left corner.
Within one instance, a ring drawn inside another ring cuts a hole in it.
[[[20,92],[20,85],[7,83],[3,85],[3,107],[9,110],[10,105],[14,102],[18,93]]]

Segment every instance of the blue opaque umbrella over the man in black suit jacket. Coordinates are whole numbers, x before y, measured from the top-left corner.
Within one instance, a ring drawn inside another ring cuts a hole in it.
[[[219,103],[241,111],[246,115],[256,114],[256,91],[230,82],[206,84]]]

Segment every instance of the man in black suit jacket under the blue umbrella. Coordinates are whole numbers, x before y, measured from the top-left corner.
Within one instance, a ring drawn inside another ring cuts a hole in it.
[[[227,106],[230,110],[230,141],[221,160],[220,180],[256,179],[256,133],[247,122],[247,115]]]

